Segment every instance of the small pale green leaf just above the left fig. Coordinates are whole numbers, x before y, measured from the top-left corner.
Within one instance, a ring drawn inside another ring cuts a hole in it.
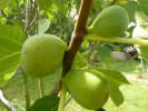
[[[49,26],[50,26],[49,19],[40,19],[38,21],[38,33],[39,34],[45,33],[48,30]]]

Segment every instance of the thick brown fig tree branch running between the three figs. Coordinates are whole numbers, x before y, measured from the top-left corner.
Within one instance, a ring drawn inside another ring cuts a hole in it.
[[[82,38],[86,34],[86,23],[91,9],[92,0],[81,0],[81,7],[78,14],[78,20],[75,27],[73,34],[71,37],[70,46],[68,51],[65,53],[63,67],[62,67],[62,77],[71,69],[75,56],[82,43]],[[51,95],[57,95],[61,89],[62,80],[60,79],[57,82],[53,90],[50,92]]]

